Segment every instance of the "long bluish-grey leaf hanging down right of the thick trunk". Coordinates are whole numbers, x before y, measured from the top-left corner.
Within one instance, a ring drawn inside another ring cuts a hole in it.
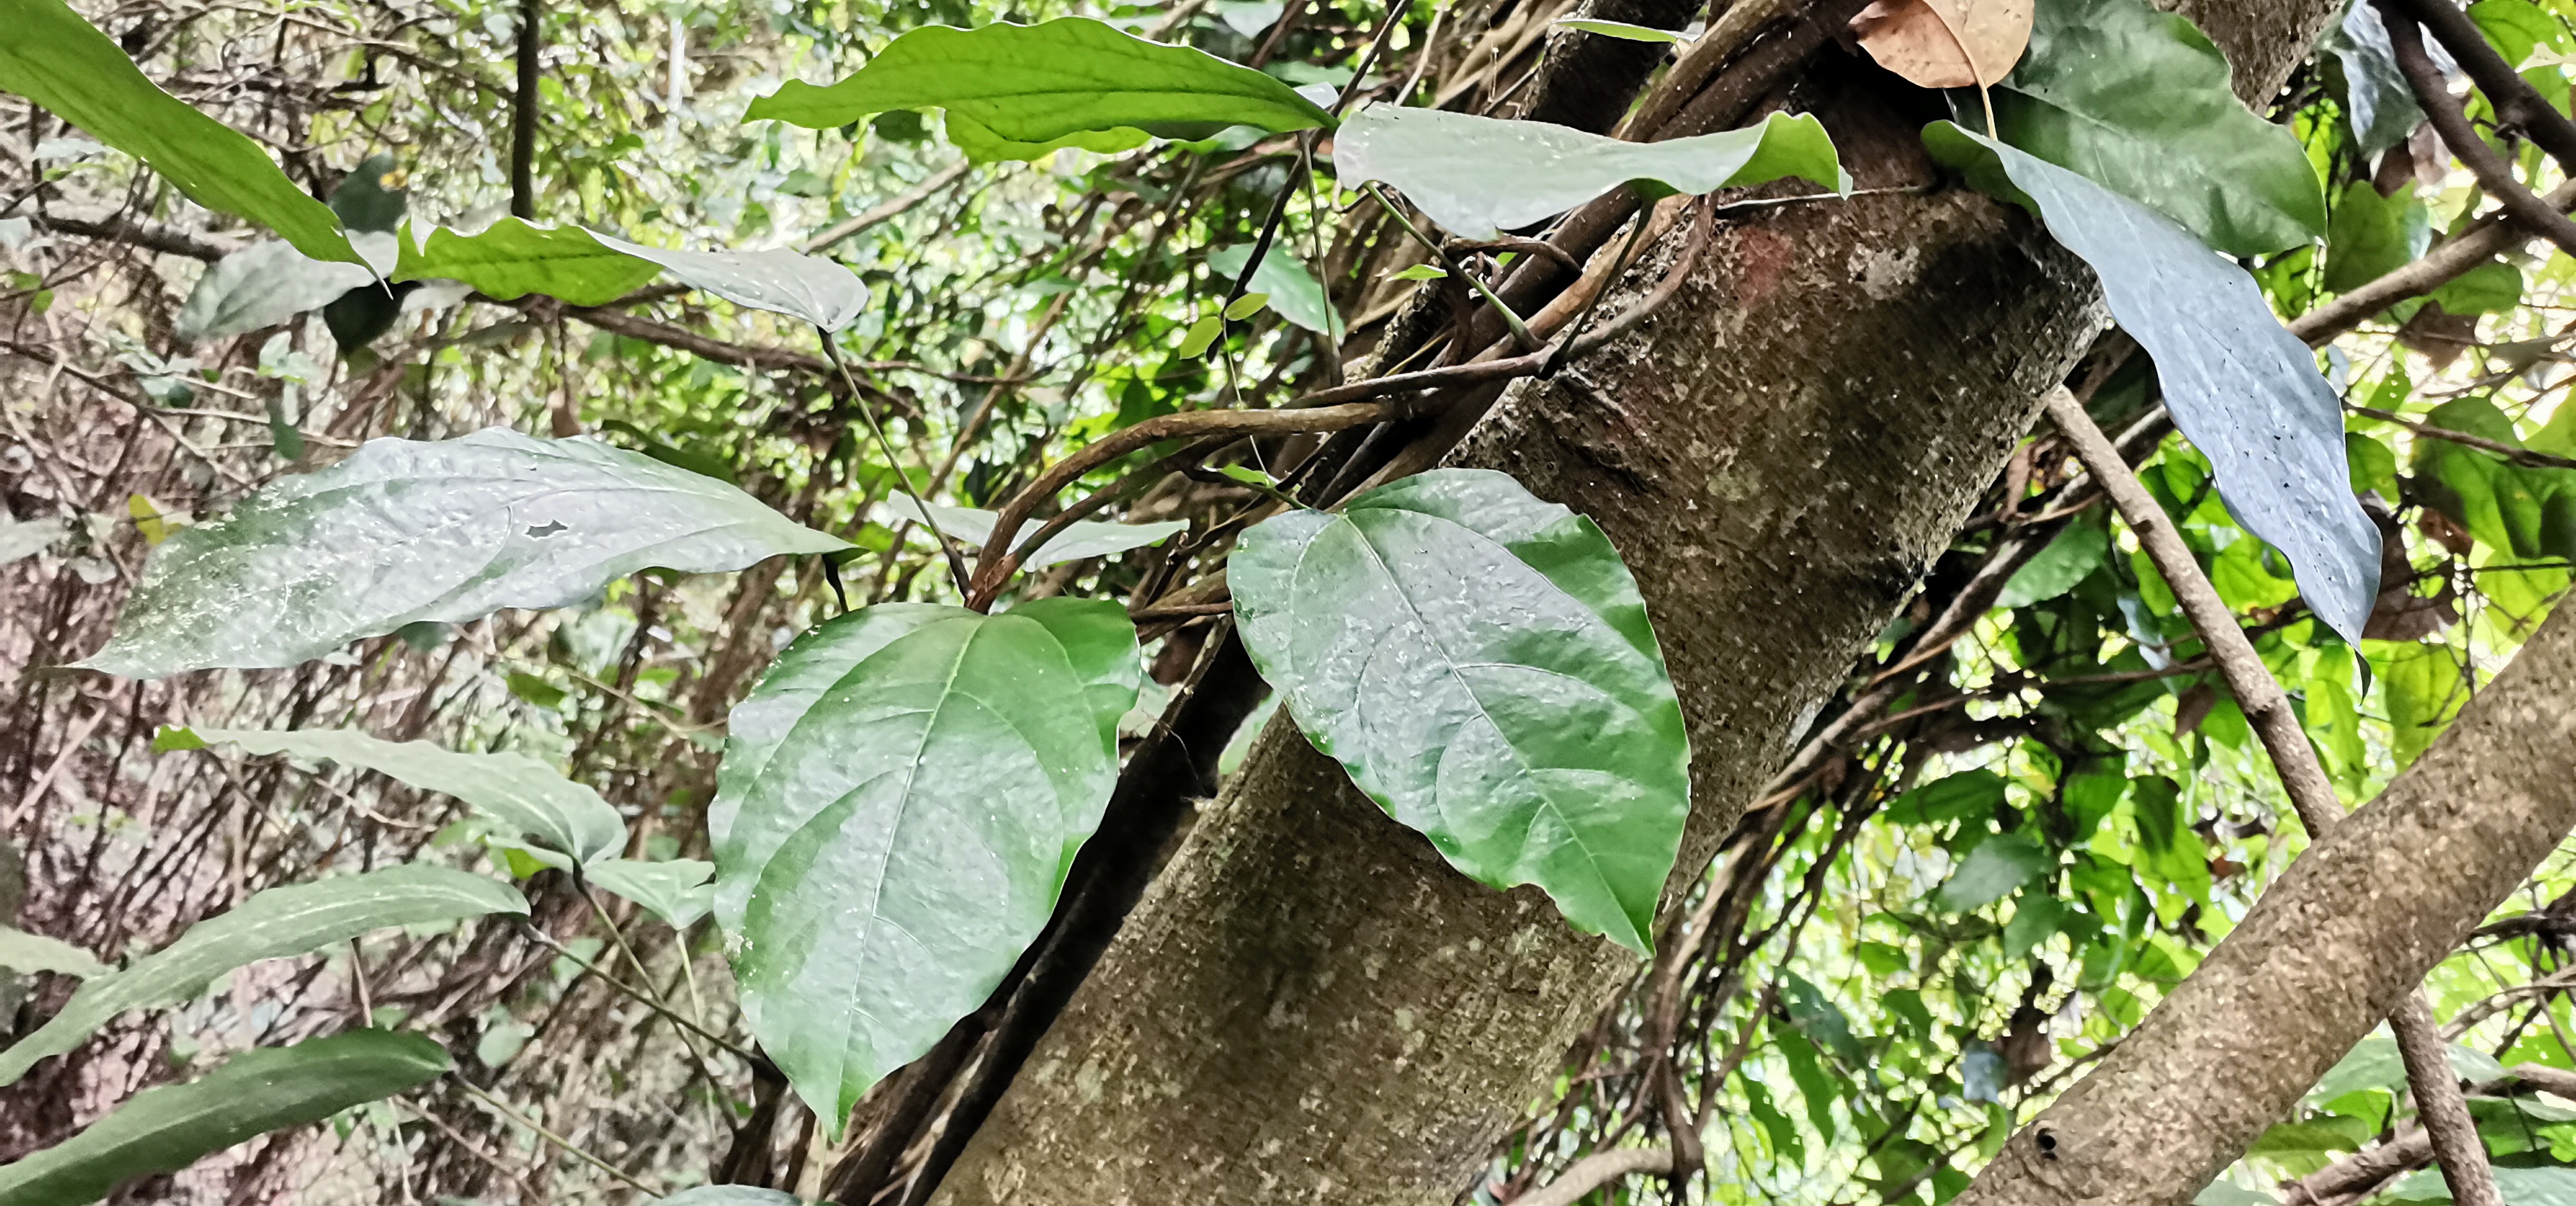
[[[2174,425],[2210,459],[2246,531],[2280,546],[2334,631],[2362,639],[2380,582],[2380,531],[2352,497],[2344,407],[2316,356],[2282,330],[2244,268],[2094,180],[1947,121],[1932,157],[2012,198],[2102,278],[2102,296],[2156,361]]]

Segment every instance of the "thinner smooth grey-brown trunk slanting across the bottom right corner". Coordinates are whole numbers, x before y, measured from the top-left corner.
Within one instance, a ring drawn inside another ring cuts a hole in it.
[[[1955,1206],[2184,1203],[2576,827],[2576,608]]]

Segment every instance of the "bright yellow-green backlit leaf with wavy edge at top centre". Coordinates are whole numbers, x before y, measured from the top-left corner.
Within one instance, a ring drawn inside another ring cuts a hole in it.
[[[1121,149],[1151,134],[1332,124],[1332,113],[1270,75],[1092,18],[914,28],[858,75],[824,88],[788,80],[744,116],[829,129],[889,108],[945,108],[951,139],[979,160],[1033,157],[1082,134],[1108,137],[1082,142],[1090,149]],[[958,119],[974,126],[971,137],[958,137]]]

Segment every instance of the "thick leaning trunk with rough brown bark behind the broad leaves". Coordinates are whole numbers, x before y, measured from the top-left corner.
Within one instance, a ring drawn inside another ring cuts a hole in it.
[[[2182,10],[2262,98],[2331,0]],[[1839,52],[1790,103],[1862,186],[1935,180],[1924,113]],[[1458,451],[1636,570],[1692,740],[1667,905],[2099,322],[2084,268],[1981,196],[1788,206],[1721,227],[1662,314]],[[1633,969],[1538,892],[1450,871],[1280,719],[935,1201],[1448,1206]]]

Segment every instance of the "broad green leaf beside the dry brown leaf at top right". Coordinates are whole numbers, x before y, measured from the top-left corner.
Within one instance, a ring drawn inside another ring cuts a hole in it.
[[[2326,193],[2287,126],[2228,88],[2228,59],[2146,0],[2038,5],[2030,54],[1994,90],[2002,139],[2143,201],[2228,255],[2326,232]]]

